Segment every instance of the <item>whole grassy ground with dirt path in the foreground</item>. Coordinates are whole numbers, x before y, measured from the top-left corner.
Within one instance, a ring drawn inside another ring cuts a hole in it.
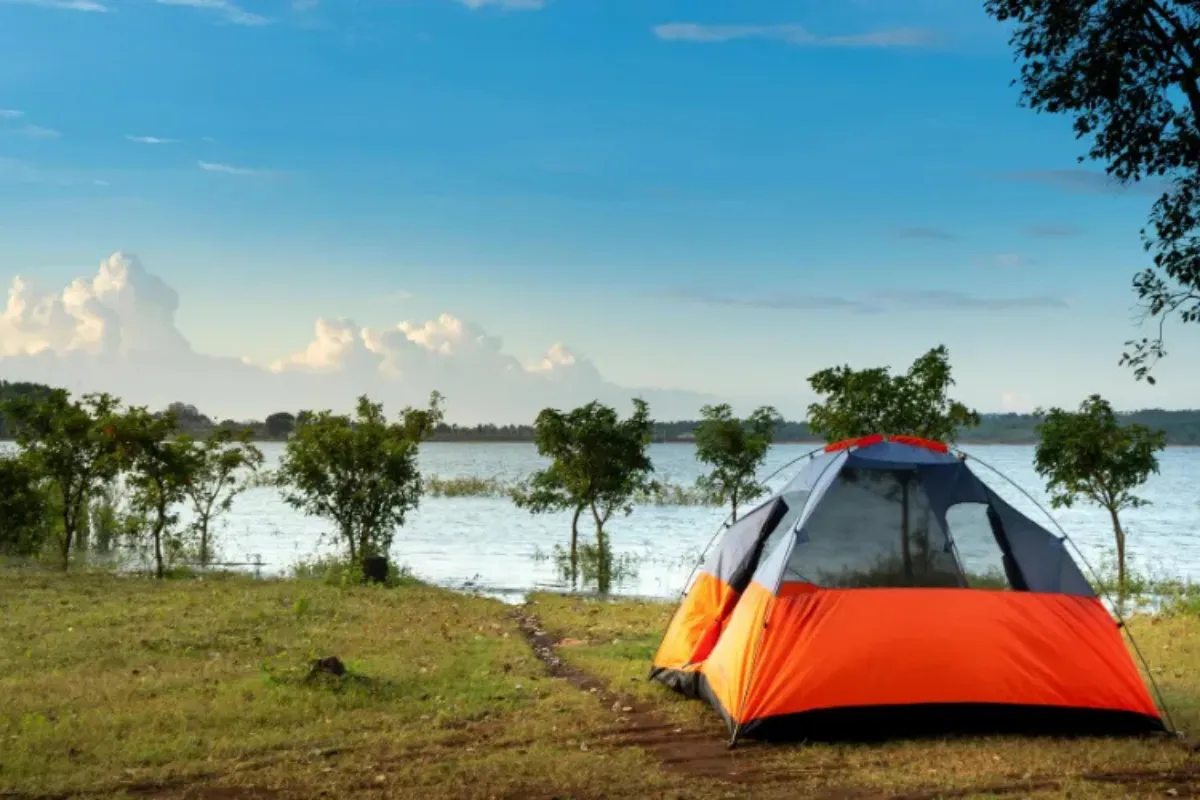
[[[0,798],[1200,796],[1171,740],[730,751],[646,680],[671,607],[0,572]],[[1133,631],[1200,732],[1200,619]],[[348,673],[310,676],[341,658]]]

